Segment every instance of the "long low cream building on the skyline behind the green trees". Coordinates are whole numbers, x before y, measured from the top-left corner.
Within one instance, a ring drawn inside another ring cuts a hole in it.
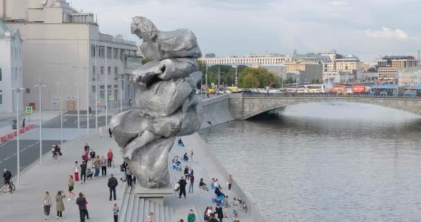
[[[200,61],[208,65],[277,65],[285,62],[291,62],[291,56],[282,56],[270,54],[265,56],[242,56],[242,57],[224,57],[224,58],[199,58]]]

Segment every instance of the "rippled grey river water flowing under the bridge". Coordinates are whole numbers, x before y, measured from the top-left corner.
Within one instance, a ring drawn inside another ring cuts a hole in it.
[[[201,130],[267,221],[421,221],[421,119],[309,103]]]

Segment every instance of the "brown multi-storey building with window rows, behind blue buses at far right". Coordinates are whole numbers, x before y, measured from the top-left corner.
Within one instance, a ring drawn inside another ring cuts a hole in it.
[[[384,56],[382,60],[377,60],[380,79],[397,78],[397,68],[416,67],[418,61],[413,56]]]

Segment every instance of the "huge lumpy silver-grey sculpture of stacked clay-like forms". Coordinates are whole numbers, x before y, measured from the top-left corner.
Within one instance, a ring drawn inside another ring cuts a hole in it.
[[[110,128],[139,184],[165,187],[175,137],[195,133],[203,119],[195,94],[201,51],[192,31],[159,31],[145,17],[133,18],[132,33],[143,40],[141,52],[151,61],[133,71],[134,109],[114,115]]]

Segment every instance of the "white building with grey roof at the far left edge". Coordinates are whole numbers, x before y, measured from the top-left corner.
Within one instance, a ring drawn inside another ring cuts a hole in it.
[[[0,20],[0,112],[22,111],[22,40],[18,30],[6,26]],[[19,96],[19,104],[17,97]]]

